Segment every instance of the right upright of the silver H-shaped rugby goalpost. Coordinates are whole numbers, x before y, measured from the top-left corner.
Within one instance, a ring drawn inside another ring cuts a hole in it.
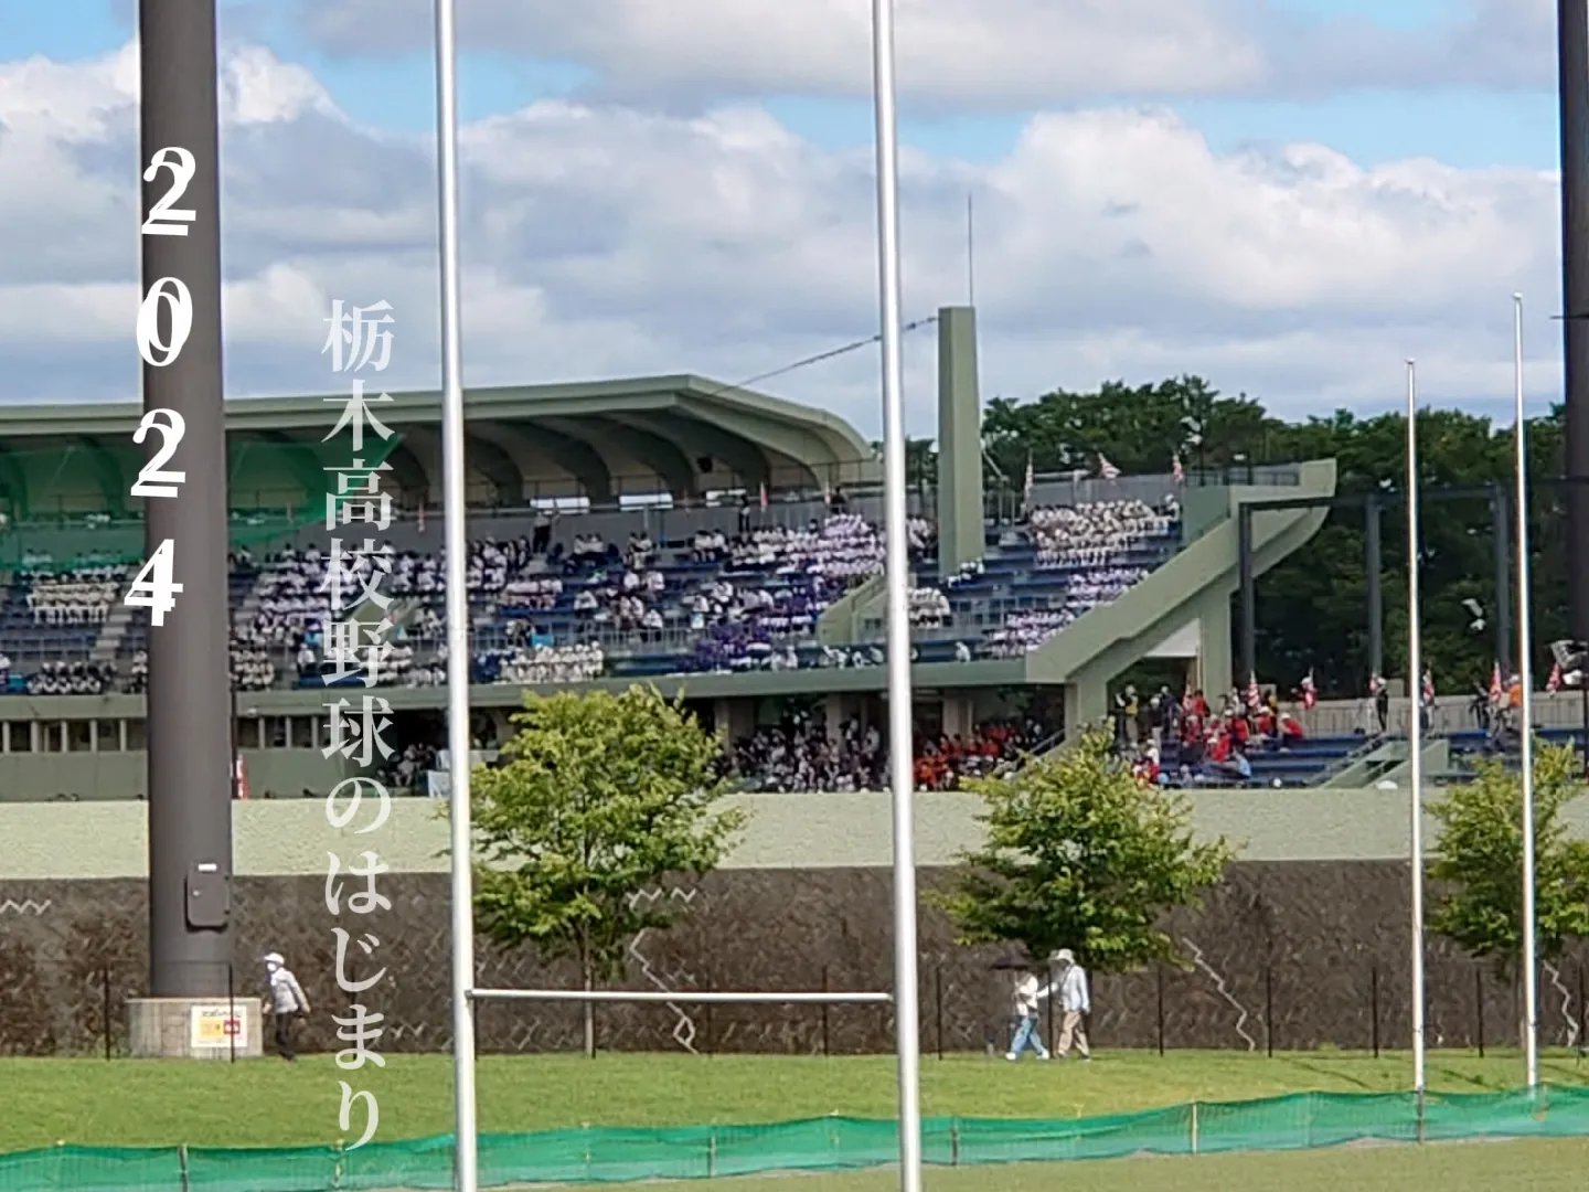
[[[922,1027],[917,1004],[915,766],[910,723],[910,555],[904,502],[904,377],[899,359],[899,130],[893,0],[872,0],[877,113],[877,288],[883,346],[883,505],[888,590],[888,772],[895,852],[895,1041],[899,1051],[899,1187],[922,1192]]]

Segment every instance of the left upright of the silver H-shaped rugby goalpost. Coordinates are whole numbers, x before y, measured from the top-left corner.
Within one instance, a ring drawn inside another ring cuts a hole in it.
[[[435,145],[442,264],[442,515],[447,551],[447,747],[453,865],[453,1187],[475,1192],[474,861],[469,817],[469,544],[464,526],[464,373],[458,278],[458,37],[454,0],[435,0]]]

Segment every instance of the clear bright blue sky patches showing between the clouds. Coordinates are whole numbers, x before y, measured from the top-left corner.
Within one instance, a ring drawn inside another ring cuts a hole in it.
[[[44,54],[57,60],[92,57],[132,37],[127,0],[5,0],[0,59]],[[1371,19],[1376,25],[1419,32],[1463,11],[1460,0],[1271,0],[1305,16]],[[310,70],[337,103],[362,122],[426,132],[434,127],[432,64],[427,54],[351,59],[319,51],[291,19],[288,0],[275,14],[248,0],[221,0],[222,35],[248,37]],[[586,78],[567,64],[467,54],[459,67],[466,119],[512,111],[547,95],[567,94]],[[864,103],[769,97],[769,110],[825,148],[871,143]],[[1427,91],[1354,91],[1316,102],[1185,99],[1174,103],[1193,127],[1225,151],[1249,143],[1320,141],[1362,164],[1433,156],[1459,167],[1522,165],[1554,168],[1556,97],[1551,91],[1440,87]],[[903,135],[938,154],[987,162],[1003,157],[1022,116],[952,121],[904,121]]]

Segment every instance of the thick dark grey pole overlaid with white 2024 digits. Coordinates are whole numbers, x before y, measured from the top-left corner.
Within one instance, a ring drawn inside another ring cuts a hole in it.
[[[149,556],[170,540],[181,585],[149,629],[149,992],[213,998],[232,960],[232,731],[227,723],[226,413],[221,393],[221,186],[215,0],[141,0],[140,170],[160,149],[192,154],[172,203],[191,208],[186,234],[141,235],[143,288],[178,278],[192,327],[164,367],[143,366],[143,408],[184,423],[165,467],[186,472],[175,497],[145,499]],[[172,189],[149,170],[143,215]],[[151,176],[153,175],[153,176]],[[151,434],[153,456],[162,437]],[[253,1024],[249,1024],[253,1025]]]

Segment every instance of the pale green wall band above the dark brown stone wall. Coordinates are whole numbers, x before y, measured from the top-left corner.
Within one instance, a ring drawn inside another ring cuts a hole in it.
[[[1430,791],[1430,798],[1438,798]],[[750,823],[728,869],[887,868],[890,801],[882,793],[744,795],[734,799]],[[1386,861],[1408,852],[1406,790],[1208,790],[1190,796],[1198,836],[1225,836],[1247,861]],[[234,861],[238,874],[324,874],[326,853],[354,858],[373,850],[396,873],[447,869],[445,803],[392,799],[378,831],[353,834],[326,822],[323,799],[234,804]],[[979,801],[971,795],[917,798],[917,860],[952,865],[976,847]],[[1589,798],[1567,811],[1572,830],[1589,838]],[[148,807],[140,803],[0,804],[0,880],[141,877],[146,874]],[[1425,822],[1430,849],[1438,828]]]

